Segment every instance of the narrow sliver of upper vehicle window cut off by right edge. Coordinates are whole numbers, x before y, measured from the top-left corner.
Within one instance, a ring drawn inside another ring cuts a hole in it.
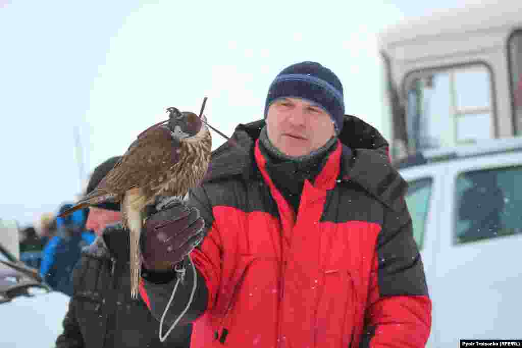
[[[515,135],[522,135],[522,29],[509,37],[508,54]]]

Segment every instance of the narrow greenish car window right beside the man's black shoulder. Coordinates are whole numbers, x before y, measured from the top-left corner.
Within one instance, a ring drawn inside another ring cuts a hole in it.
[[[410,211],[413,225],[413,238],[419,249],[422,249],[426,218],[428,217],[429,202],[431,196],[432,179],[424,178],[408,182],[406,193],[406,205]]]

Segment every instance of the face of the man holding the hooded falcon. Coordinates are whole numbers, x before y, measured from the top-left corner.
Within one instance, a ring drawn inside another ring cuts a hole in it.
[[[330,115],[300,98],[273,102],[266,117],[268,138],[282,153],[298,157],[321,148],[335,135]]]

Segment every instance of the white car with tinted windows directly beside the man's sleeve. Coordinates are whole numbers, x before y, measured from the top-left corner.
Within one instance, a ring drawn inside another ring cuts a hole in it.
[[[521,338],[522,137],[398,166],[433,301],[428,346]]]

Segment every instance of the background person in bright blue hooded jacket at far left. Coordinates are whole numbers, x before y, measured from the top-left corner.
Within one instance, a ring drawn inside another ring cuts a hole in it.
[[[64,203],[60,213],[73,207]],[[85,231],[87,210],[81,209],[64,218],[56,218],[56,234],[42,251],[40,277],[56,291],[71,296],[70,275],[80,258],[81,248],[94,241],[94,234]]]

